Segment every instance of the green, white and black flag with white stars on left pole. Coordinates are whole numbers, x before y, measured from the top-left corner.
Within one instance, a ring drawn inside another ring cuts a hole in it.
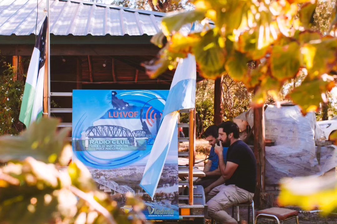
[[[19,120],[28,127],[42,117],[43,81],[48,18],[45,17],[30,59]]]

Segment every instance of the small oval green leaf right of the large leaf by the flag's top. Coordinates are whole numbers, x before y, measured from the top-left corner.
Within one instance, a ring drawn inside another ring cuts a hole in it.
[[[228,75],[231,76],[235,81],[244,81],[247,79],[249,59],[245,54],[235,51],[231,56],[229,56],[225,68]]]

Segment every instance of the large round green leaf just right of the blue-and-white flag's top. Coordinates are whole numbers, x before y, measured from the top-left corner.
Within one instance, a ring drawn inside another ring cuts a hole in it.
[[[226,50],[219,45],[219,35],[208,31],[201,40],[192,48],[195,60],[202,71],[202,76],[216,79],[224,72]]]

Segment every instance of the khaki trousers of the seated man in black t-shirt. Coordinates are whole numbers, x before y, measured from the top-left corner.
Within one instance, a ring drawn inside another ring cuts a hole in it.
[[[221,224],[237,224],[238,222],[224,210],[235,204],[253,199],[254,194],[235,185],[220,185],[207,195],[208,215]]]

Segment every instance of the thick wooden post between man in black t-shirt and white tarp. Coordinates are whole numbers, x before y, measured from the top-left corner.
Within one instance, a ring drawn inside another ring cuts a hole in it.
[[[264,208],[262,194],[265,192],[265,116],[264,108],[254,108],[254,154],[257,163],[257,187],[254,201]]]

